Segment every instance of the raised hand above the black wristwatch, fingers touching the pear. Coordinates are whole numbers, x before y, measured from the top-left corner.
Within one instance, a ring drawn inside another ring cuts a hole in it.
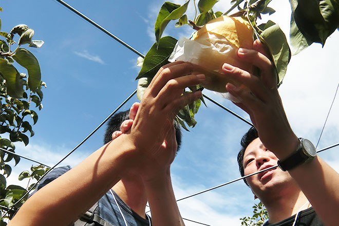
[[[242,84],[240,87],[228,83],[226,88],[239,100],[239,103],[235,104],[250,115],[263,145],[278,158],[285,158],[297,148],[299,141],[286,118],[277,90],[277,75],[269,54],[256,40],[253,50],[240,48],[238,56],[241,60],[257,66],[261,71],[260,77],[224,64],[223,72]]]

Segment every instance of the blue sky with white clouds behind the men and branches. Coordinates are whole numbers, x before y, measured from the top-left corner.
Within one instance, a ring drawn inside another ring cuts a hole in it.
[[[184,1],[176,0],[183,4]],[[67,1],[68,4],[145,54],[155,41],[154,22],[163,1]],[[189,5],[189,17],[194,15]],[[277,12],[270,20],[289,33],[288,1],[270,4]],[[35,30],[34,39],[44,40],[40,49],[29,48],[40,62],[44,108],[38,112],[34,137],[17,153],[53,165],[97,127],[137,87],[138,55],[126,49],[97,28],[53,0],[2,1],[2,31],[18,24]],[[221,0],[216,8],[226,11],[230,1]],[[164,35],[179,39],[190,36],[189,26],[174,28],[170,23]],[[163,35],[163,36],[164,36]],[[292,56],[279,92],[288,119],[297,136],[316,143],[339,82],[335,31],[324,48],[319,44]],[[24,69],[20,70],[24,72]],[[230,101],[208,95],[249,120]],[[123,109],[137,101],[130,100]],[[339,100],[335,100],[321,142],[323,148],[339,142]],[[183,134],[182,148],[172,165],[177,199],[239,177],[236,155],[239,140],[249,126],[206,100],[196,116],[198,124]],[[101,128],[65,164],[77,164],[102,145]],[[321,154],[339,171],[339,148]],[[18,183],[17,175],[32,163],[22,159],[14,167],[8,183]],[[24,181],[25,182],[25,181]],[[25,182],[27,183],[27,181]],[[22,182],[21,182],[22,184]],[[178,202],[184,218],[210,225],[240,225],[239,218],[252,214],[254,198],[242,181]],[[185,221],[186,225],[199,225]]]

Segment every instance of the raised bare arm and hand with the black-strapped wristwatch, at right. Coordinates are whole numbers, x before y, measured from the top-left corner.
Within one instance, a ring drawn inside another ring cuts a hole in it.
[[[261,75],[256,77],[247,71],[225,64],[223,72],[247,87],[240,88],[227,84],[226,88],[240,100],[235,104],[250,115],[263,145],[280,160],[284,160],[296,152],[299,140],[286,118],[272,63],[259,41],[254,42],[253,50],[239,49],[238,56],[243,61],[259,67]],[[293,168],[289,173],[324,223],[337,225],[339,174],[320,157]]]

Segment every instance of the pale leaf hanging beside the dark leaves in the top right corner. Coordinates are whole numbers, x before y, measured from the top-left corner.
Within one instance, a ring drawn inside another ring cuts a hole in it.
[[[306,37],[298,29],[293,14],[291,14],[290,44],[292,47],[292,55],[298,54],[312,44],[312,42],[306,40]]]

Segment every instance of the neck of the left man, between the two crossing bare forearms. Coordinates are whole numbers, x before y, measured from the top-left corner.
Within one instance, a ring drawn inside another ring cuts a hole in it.
[[[138,215],[146,218],[145,209],[147,197],[141,179],[123,178],[116,183],[112,190]]]

